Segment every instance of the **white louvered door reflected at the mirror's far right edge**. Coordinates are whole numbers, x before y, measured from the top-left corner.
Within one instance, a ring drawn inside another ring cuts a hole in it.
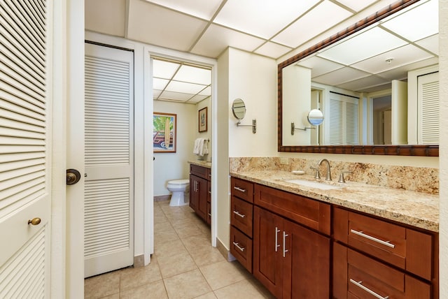
[[[439,73],[421,75],[417,79],[419,105],[418,142],[421,145],[439,144]]]

